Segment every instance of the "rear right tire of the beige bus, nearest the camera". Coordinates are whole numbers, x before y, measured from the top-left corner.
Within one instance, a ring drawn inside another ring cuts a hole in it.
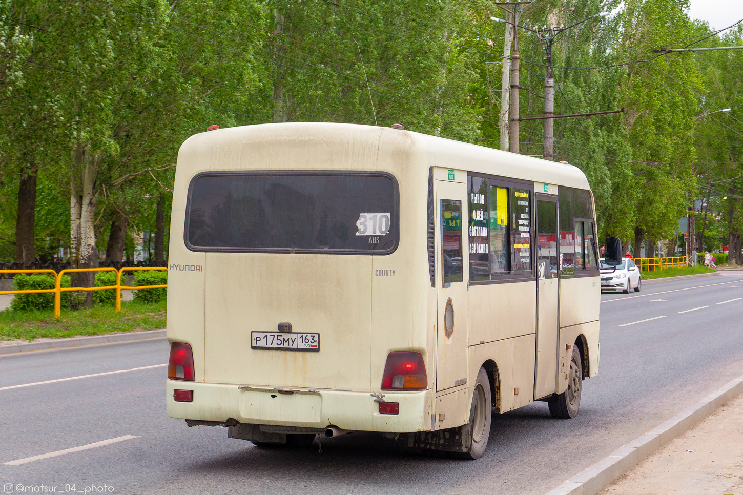
[[[457,459],[479,459],[487,447],[490,437],[490,421],[493,419],[493,398],[490,395],[490,379],[480,368],[475,381],[470,406],[470,422],[459,427],[464,452],[450,452]]]

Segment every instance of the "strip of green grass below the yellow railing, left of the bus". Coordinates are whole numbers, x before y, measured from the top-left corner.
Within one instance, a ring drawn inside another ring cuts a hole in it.
[[[71,311],[0,311],[0,340],[111,334],[115,331],[165,328],[165,302],[124,301],[121,311],[110,306]]]

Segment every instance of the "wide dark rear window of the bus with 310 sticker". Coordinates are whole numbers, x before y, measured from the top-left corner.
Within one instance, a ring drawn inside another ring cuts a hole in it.
[[[190,250],[389,254],[398,230],[389,174],[207,172],[189,186]]]

